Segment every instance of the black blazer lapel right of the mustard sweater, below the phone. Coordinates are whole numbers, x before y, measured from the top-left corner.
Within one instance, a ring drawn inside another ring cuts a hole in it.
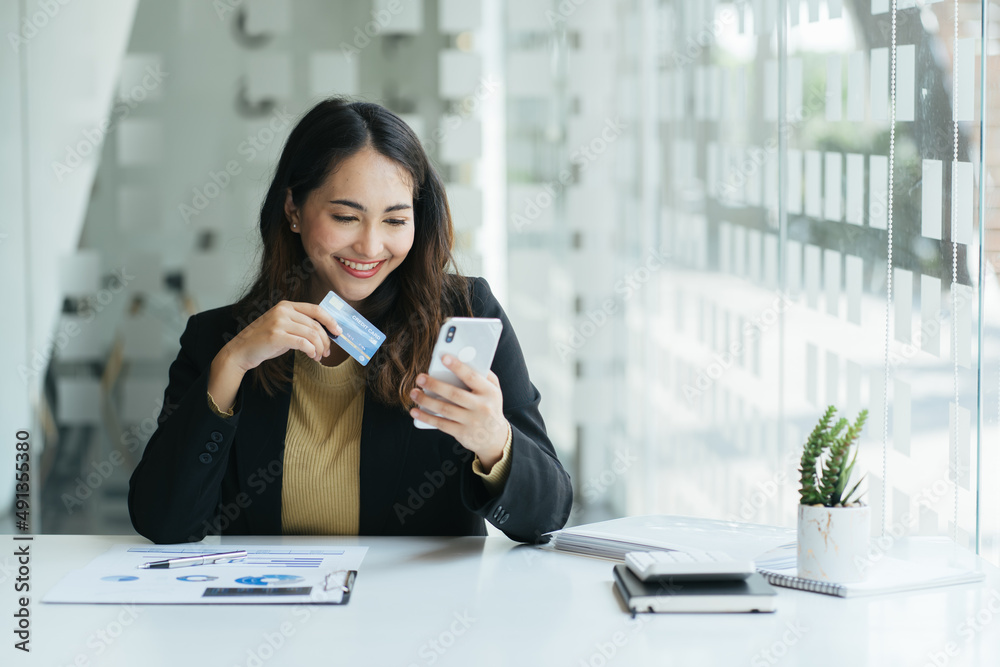
[[[413,429],[412,420],[399,408],[379,402],[365,390],[361,418],[361,535],[383,533],[391,504],[396,498],[400,475]]]

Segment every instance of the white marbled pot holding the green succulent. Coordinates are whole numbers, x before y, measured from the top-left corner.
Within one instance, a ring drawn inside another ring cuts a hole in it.
[[[799,505],[799,576],[847,584],[864,581],[871,508]]]

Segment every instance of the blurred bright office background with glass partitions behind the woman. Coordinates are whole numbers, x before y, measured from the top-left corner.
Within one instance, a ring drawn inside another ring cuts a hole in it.
[[[285,136],[345,94],[402,115],[447,182],[571,522],[792,525],[801,442],[834,403],[871,413],[876,533],[1000,562],[996,31],[985,2],[890,9],[5,3],[0,470],[28,428],[33,528],[131,532],[186,319],[249,279]]]

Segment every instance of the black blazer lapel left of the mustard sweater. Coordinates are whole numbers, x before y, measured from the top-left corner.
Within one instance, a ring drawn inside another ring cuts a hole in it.
[[[281,534],[281,479],[292,385],[269,397],[248,379],[237,430],[240,488],[250,497],[247,522],[253,535]]]

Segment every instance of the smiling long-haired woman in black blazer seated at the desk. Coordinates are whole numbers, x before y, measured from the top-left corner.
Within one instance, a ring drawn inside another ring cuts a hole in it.
[[[485,519],[532,542],[565,524],[569,475],[517,337],[486,281],[454,272],[444,186],[402,120],[341,99],[310,110],[260,233],[246,294],[181,336],[174,410],[130,483],[138,532],[484,535]],[[386,335],[364,368],[331,345],[340,325],[317,305],[330,291]],[[425,373],[451,316],[503,324],[486,376],[444,357],[467,389]]]

